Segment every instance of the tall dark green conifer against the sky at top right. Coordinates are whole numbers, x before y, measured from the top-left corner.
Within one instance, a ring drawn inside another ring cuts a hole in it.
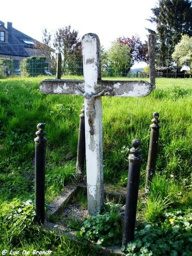
[[[159,0],[151,9],[154,17],[148,19],[156,23],[159,38],[158,56],[160,66],[169,66],[173,49],[182,35],[192,35],[191,0]]]

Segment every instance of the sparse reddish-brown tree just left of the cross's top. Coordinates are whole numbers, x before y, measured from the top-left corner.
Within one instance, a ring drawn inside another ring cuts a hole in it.
[[[81,42],[78,31],[71,26],[59,28],[55,32],[54,47],[62,54],[62,71],[64,74],[74,74],[77,70],[82,73]]]

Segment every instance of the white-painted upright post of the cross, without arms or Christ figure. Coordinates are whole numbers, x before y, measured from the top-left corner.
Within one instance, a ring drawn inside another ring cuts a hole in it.
[[[93,34],[82,38],[84,90],[89,94],[96,91],[98,79],[99,38]],[[93,131],[87,118],[87,99],[84,98],[85,109],[85,141],[86,141],[86,167],[87,167],[87,200],[90,215],[100,212],[103,204],[103,150],[102,150],[102,100],[101,97],[93,100],[95,114],[93,116]]]

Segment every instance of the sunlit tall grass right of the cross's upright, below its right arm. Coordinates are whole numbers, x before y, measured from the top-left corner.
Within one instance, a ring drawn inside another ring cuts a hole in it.
[[[103,98],[105,163],[110,162],[111,172],[125,172],[123,165],[126,160],[122,148],[131,147],[131,140],[140,138],[145,160],[142,177],[145,177],[143,172],[148,156],[149,125],[155,111],[160,113],[161,126],[157,169],[178,178],[191,172],[190,80],[181,79],[182,84],[180,80],[167,80],[169,84],[165,79],[157,79],[156,89],[145,98]]]

